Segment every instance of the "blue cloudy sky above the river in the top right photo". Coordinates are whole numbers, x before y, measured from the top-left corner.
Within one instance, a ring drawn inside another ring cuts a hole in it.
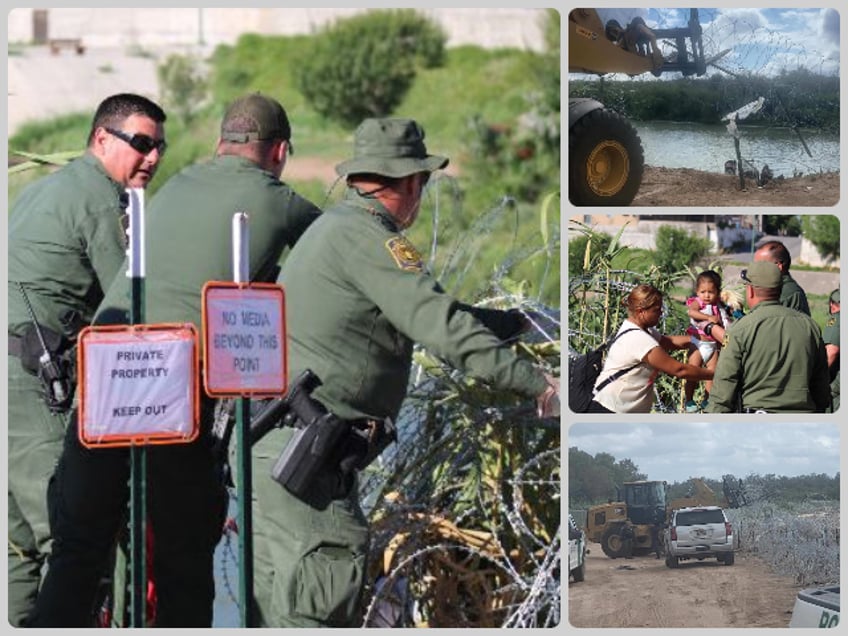
[[[636,15],[651,28],[684,27],[689,9],[598,9],[601,20],[622,26]],[[698,10],[707,58],[730,49],[717,63],[734,72],[772,76],[801,66],[821,75],[839,74],[839,13],[829,8]],[[719,72],[710,67],[708,75]],[[668,77],[679,76],[677,73]],[[622,75],[621,78],[626,78]],[[640,79],[653,79],[650,73]]]

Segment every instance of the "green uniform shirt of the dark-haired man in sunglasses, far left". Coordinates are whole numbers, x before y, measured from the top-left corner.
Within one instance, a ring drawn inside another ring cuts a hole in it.
[[[9,331],[32,320],[62,333],[59,316],[77,311],[88,323],[124,259],[120,196],[93,155],[85,154],[27,187],[9,217]]]

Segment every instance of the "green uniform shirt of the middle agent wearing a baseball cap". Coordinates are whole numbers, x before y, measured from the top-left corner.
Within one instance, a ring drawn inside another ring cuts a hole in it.
[[[147,206],[144,322],[201,323],[201,290],[233,280],[232,221],[247,212],[250,280],[274,282],[277,262],[320,210],[247,159],[216,157],[183,169]],[[129,321],[130,281],[115,279],[96,322]]]

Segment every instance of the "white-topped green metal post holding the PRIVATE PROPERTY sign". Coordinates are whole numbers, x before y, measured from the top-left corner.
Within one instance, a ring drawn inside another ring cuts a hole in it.
[[[130,324],[144,322],[144,190],[128,188],[129,215],[127,257],[130,278]],[[147,521],[147,451],[130,447],[130,580],[132,600],[130,626],[144,627],[147,591],[145,532]]]

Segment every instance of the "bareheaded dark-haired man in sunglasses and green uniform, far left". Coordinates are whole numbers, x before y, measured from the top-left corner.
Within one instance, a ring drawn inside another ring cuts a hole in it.
[[[50,549],[47,482],[62,450],[63,411],[70,406],[45,403],[37,377],[43,351],[27,301],[51,353],[60,355],[75,335],[64,332],[63,318],[77,329],[87,324],[119,273],[125,250],[121,195],[127,186],[146,186],[156,173],[164,122],[164,111],[145,97],[107,97],[94,114],[85,153],[29,185],[12,206],[7,246],[12,625],[21,625],[33,608]],[[159,145],[141,152],[144,138]]]

